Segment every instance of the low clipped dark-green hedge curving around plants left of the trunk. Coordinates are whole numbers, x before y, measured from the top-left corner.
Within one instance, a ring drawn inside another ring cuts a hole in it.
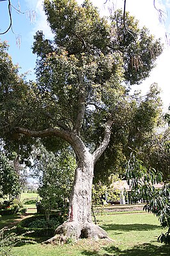
[[[54,217],[59,217],[56,214],[51,214],[50,218],[54,218]],[[18,234],[23,234],[26,232],[31,232],[33,231],[33,233],[31,233],[31,236],[33,237],[49,237],[49,236],[53,236],[55,229],[56,228],[31,228],[28,227],[29,223],[36,221],[37,219],[45,219],[45,215],[37,215],[37,216],[32,216],[26,219],[23,219],[22,221],[20,221],[17,224],[17,233]],[[61,222],[61,219],[59,219]],[[62,222],[61,222],[62,223]]]

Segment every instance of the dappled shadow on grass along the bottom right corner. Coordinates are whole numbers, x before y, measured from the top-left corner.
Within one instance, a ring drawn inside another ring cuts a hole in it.
[[[104,248],[105,253],[100,252],[90,252],[87,250],[84,250],[82,252],[82,255],[86,256],[169,256],[170,255],[170,246],[162,245],[162,246],[156,246],[150,243],[147,244],[141,244],[139,246],[135,246],[132,249],[121,251],[119,248],[116,248],[114,246],[110,246],[107,248]]]

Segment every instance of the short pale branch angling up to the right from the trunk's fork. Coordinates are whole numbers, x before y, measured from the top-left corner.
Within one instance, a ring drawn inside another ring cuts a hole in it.
[[[105,149],[107,148],[110,138],[111,138],[111,127],[112,127],[112,119],[110,118],[107,123],[105,124],[105,132],[104,132],[104,139],[101,142],[100,146],[95,150],[93,153],[93,157],[95,159],[95,162],[98,160],[98,158],[104,153]]]

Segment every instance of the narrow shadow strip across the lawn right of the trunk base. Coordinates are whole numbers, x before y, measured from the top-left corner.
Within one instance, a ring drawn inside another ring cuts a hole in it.
[[[127,224],[127,225],[118,225],[118,224],[105,224],[100,225],[104,230],[119,230],[124,232],[130,231],[147,231],[147,230],[154,230],[160,228],[160,225],[150,225],[150,224]],[[170,254],[169,254],[170,255]]]

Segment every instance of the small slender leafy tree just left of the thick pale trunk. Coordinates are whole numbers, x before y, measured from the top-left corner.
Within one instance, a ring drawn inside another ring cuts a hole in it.
[[[70,151],[54,155],[43,146],[38,150],[36,176],[39,176],[38,194],[42,198],[47,221],[52,209],[66,209],[73,182],[75,160]]]

